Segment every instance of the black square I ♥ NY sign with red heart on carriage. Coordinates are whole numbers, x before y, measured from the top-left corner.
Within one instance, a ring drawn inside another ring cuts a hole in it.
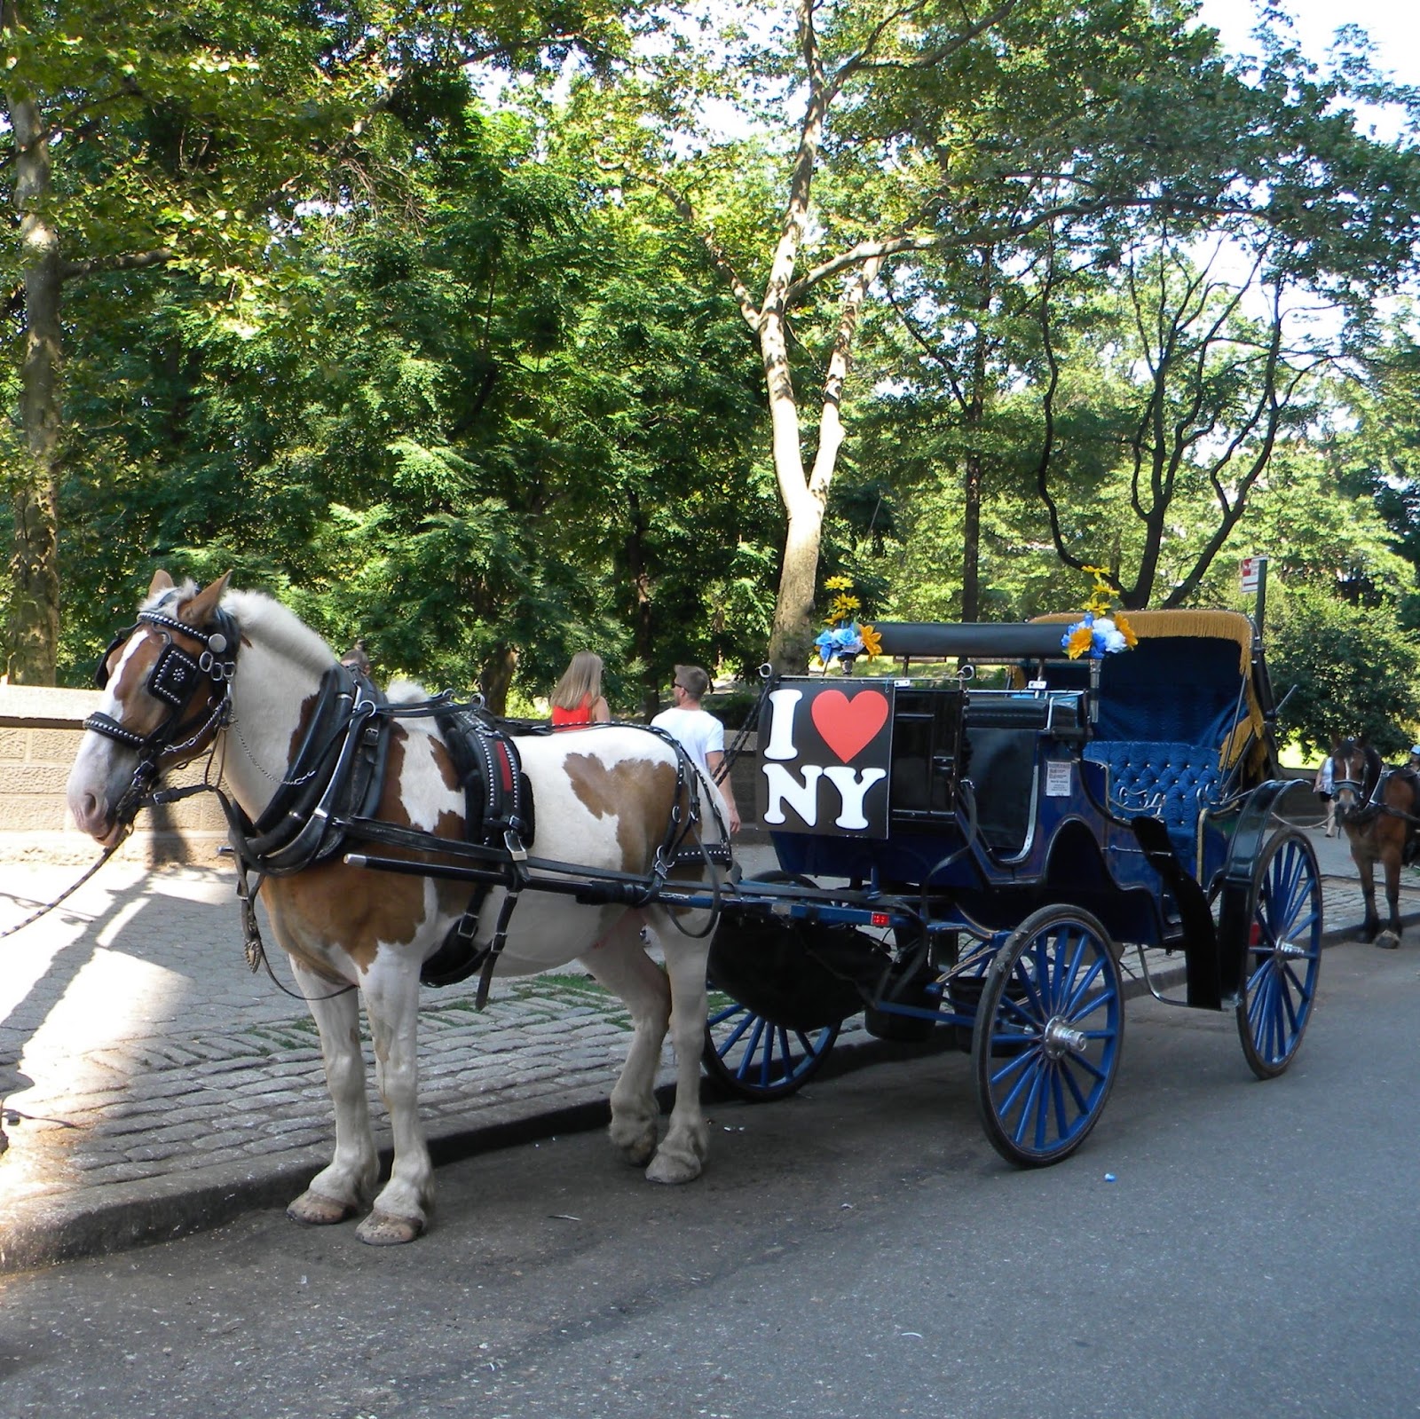
[[[760,716],[760,821],[790,832],[888,837],[890,680],[784,682]]]

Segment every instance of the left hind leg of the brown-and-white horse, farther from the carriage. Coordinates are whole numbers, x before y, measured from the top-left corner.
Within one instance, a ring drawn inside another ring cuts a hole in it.
[[[630,1050],[612,1089],[611,1141],[635,1168],[643,1168],[656,1152],[656,1072],[670,1021],[670,986],[642,946],[642,925],[640,912],[625,912],[582,957],[596,982],[630,1013]]]

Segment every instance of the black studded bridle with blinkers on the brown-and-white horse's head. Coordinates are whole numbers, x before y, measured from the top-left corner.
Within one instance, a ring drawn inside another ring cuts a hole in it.
[[[186,621],[179,621],[156,608],[139,611],[138,621],[128,629],[119,631],[99,658],[98,669],[94,672],[94,683],[99,689],[108,685],[108,662],[114,652],[145,625],[158,626],[163,648],[148,672],[143,689],[169,707],[168,714],[149,734],[133,733],[102,710],[95,710],[84,720],[85,729],[112,739],[138,754],[132,783],[114,808],[115,822],[124,827],[133,821],[163,768],[186,763],[227,723],[231,714],[231,678],[237,670],[237,646],[241,641],[236,621],[226,611],[219,609],[212,626],[206,629],[187,625]],[[172,632],[196,641],[202,652],[193,656],[173,641]],[[207,693],[206,714],[200,720],[190,714],[192,702],[199,690]]]

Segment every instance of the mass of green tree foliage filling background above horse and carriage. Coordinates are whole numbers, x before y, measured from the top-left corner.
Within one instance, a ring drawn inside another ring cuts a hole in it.
[[[464,690],[515,665],[520,705],[582,646],[621,713],[677,660],[751,673],[785,516],[760,352],[699,236],[763,288],[802,118],[794,7],[763,9],[785,23],[737,11],[721,54],[663,33],[655,74],[632,7],[37,10],[17,71],[72,121],[54,213],[65,254],[95,261],[65,301],[64,676],[87,678],[159,564],[230,568],[337,648],[364,638],[386,675]],[[814,13],[825,62],[849,65],[795,274],[903,239],[835,405],[819,584],[851,575],[870,616],[958,616],[977,479],[990,619],[1076,605],[1072,560],[1137,578],[1137,599],[1231,602],[1237,557],[1265,550],[1279,618],[1336,601],[1420,624],[1420,361],[1366,322],[1409,270],[1420,183],[1410,146],[1345,112],[1363,70],[1311,74],[1279,48],[1234,72],[1172,3],[1021,0],[933,62],[958,9]],[[577,45],[567,84],[540,82]],[[496,102],[469,61],[508,75]],[[707,134],[701,98],[757,126]],[[612,158],[673,179],[699,224],[665,183],[621,186]],[[1217,283],[1189,294],[1177,253],[1204,233],[1252,243],[1254,290],[1350,320],[1325,352],[1289,345],[1285,378],[1331,364],[1282,391],[1271,430],[1247,426],[1269,398],[1267,320]],[[160,270],[116,263],[159,244]],[[791,304],[790,374],[819,391],[838,286]],[[1369,389],[1338,392],[1332,368]],[[10,469],[24,445],[6,437]],[[1314,743],[1355,730],[1326,706],[1356,710],[1362,679],[1316,689]]]

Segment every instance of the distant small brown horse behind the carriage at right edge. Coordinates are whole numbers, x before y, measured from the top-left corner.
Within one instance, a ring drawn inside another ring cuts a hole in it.
[[[1366,899],[1360,939],[1394,950],[1400,945],[1400,866],[1407,857],[1407,841],[1420,827],[1416,774],[1410,768],[1387,768],[1375,749],[1346,739],[1332,750],[1332,798]],[[1384,930],[1376,915],[1377,862],[1386,872],[1390,908]]]

